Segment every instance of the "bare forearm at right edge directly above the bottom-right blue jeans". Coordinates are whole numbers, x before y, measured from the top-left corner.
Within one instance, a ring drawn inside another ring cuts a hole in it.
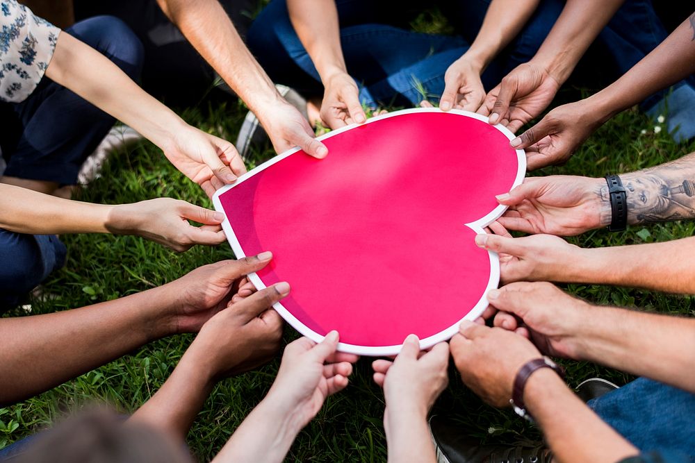
[[[589,306],[573,357],[695,392],[695,319]]]

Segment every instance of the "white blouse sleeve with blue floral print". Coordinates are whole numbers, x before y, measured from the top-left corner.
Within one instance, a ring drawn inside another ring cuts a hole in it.
[[[60,28],[16,0],[0,0],[0,26],[0,100],[19,103],[44,76]]]

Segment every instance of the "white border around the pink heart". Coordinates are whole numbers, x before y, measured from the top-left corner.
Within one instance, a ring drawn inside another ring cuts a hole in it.
[[[382,119],[387,119],[389,117],[398,117],[401,115],[405,114],[412,114],[414,112],[443,112],[439,108],[413,108],[413,109],[407,109],[407,110],[400,110],[400,111],[394,111],[394,112],[389,112],[389,114],[385,114],[382,116],[377,116],[373,117],[371,119],[368,119],[364,124],[370,124],[374,121],[380,121]],[[479,114],[475,114],[475,112],[469,112],[469,111],[461,111],[461,110],[449,110],[447,111],[450,114],[458,114],[461,116],[466,116],[466,117],[473,117],[473,119],[478,119],[480,121],[485,122],[486,124],[489,124],[488,118],[485,116],[481,116]],[[359,124],[362,125],[362,124]],[[334,137],[335,135],[338,135],[339,133],[343,133],[345,131],[349,131],[352,128],[359,127],[358,124],[351,124],[350,126],[345,126],[338,128],[335,131],[329,132],[326,135],[322,135],[317,138],[317,140],[325,140],[330,137]],[[514,133],[509,131],[508,128],[501,126],[500,124],[497,124],[494,126],[495,128],[498,129],[498,131],[502,132],[505,134],[509,140],[512,140],[514,138]],[[296,153],[297,151],[300,151],[300,148],[293,148],[288,151],[285,151],[284,153],[281,153],[275,158],[272,158],[266,162],[263,162],[263,164],[259,165],[252,171],[247,172],[243,176],[240,176],[236,182],[232,183],[231,185],[226,185],[217,192],[215,192],[215,195],[213,196],[213,203],[215,205],[215,210],[218,210],[220,212],[224,212],[224,208],[222,208],[222,203],[220,202],[220,195],[224,194],[231,188],[236,187],[236,185],[239,185],[241,182],[246,180],[247,178],[250,178],[251,176],[254,176],[255,174],[258,174],[260,171],[263,169],[268,169],[268,167],[272,166],[275,164],[275,162],[279,162],[283,160],[284,158],[287,158],[289,155],[292,155]],[[516,187],[517,185],[521,185],[521,182],[523,182],[523,178],[526,175],[526,154],[523,150],[517,149],[516,150],[516,156],[518,158],[518,171],[516,172],[516,178],[514,179],[514,184],[512,185],[509,190],[512,190],[512,188]],[[470,224],[466,224],[468,228],[471,228],[473,231],[477,233],[485,233],[485,228],[489,224],[491,224],[493,221],[498,219],[502,214],[504,214],[505,210],[507,210],[507,206],[505,205],[498,205],[496,208],[494,208],[489,214],[486,214],[484,217],[481,219],[477,219],[476,221],[471,222]],[[243,249],[241,249],[241,244],[239,243],[238,239],[236,238],[236,234],[234,233],[234,230],[231,228],[231,225],[229,224],[229,221],[227,218],[224,219],[224,222],[222,222],[222,229],[224,230],[225,235],[227,235],[227,239],[229,240],[229,244],[231,244],[231,249],[234,251],[234,255],[236,255],[236,258],[244,258],[246,257],[246,254],[244,253]],[[480,314],[484,312],[484,310],[487,308],[487,292],[490,289],[495,289],[498,287],[498,284],[500,283],[500,260],[498,258],[498,255],[496,253],[493,253],[491,251],[488,251],[488,254],[490,256],[490,280],[488,281],[487,288],[485,292],[482,294],[480,300],[473,306],[473,309],[471,309],[468,314],[461,320],[457,321],[454,325],[450,326],[449,328],[440,331],[436,333],[436,335],[432,335],[430,337],[426,337],[425,339],[420,339],[420,348],[426,349],[434,346],[434,344],[437,344],[442,341],[447,341],[450,339],[453,335],[455,335],[459,331],[459,324],[461,324],[461,321],[463,320],[475,320],[477,317],[480,317]],[[265,288],[265,284],[259,278],[259,276],[256,273],[250,273],[248,276],[249,280],[256,286],[258,289],[263,289]],[[275,303],[272,306],[277,312],[284,318],[287,323],[290,323],[290,325],[295,328],[295,330],[299,331],[302,335],[308,337],[309,339],[313,340],[314,342],[321,342],[323,340],[323,336],[319,335],[318,332],[311,330],[309,327],[304,325],[301,321],[299,321],[293,314],[291,314],[286,308],[283,307],[283,305],[279,302]],[[395,346],[357,346],[355,344],[345,344],[343,342],[338,343],[338,351],[341,352],[348,352],[348,353],[354,353],[358,355],[370,355],[370,356],[382,356],[382,355],[397,355],[400,352],[402,344],[398,344]]]

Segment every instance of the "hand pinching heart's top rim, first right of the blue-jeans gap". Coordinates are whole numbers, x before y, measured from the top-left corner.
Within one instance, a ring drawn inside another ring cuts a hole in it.
[[[481,71],[480,65],[466,59],[466,55],[453,62],[444,74],[445,87],[439,108],[443,111],[454,108],[473,112],[480,108],[485,99]]]

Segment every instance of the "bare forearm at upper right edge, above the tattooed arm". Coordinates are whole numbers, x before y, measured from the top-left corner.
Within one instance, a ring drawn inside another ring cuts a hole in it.
[[[693,73],[695,13],[630,71],[589,97],[589,101],[594,103],[596,113],[607,120]]]

